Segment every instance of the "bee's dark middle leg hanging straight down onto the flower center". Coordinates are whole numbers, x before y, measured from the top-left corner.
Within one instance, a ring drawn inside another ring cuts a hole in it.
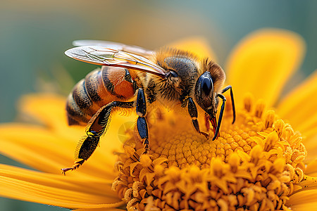
[[[147,114],[147,101],[142,88],[137,91],[137,131],[141,137],[144,153],[149,153],[149,127],[145,115]]]

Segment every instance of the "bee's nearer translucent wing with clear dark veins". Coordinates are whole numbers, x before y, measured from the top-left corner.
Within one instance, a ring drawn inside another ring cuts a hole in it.
[[[119,68],[130,68],[165,77],[166,70],[143,56],[133,53],[108,49],[102,46],[79,46],[65,51],[66,56],[94,65],[106,65]]]

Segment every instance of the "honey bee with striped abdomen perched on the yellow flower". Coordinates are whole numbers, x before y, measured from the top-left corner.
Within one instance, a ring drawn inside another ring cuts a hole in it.
[[[74,45],[76,47],[65,52],[67,56],[102,65],[102,68],[90,72],[68,96],[68,124],[87,124],[87,128],[86,135],[77,144],[74,165],[62,169],[64,174],[80,167],[92,155],[116,108],[135,108],[137,132],[145,154],[149,153],[147,111],[155,103],[187,113],[194,130],[206,139],[209,139],[211,122],[215,140],[225,108],[223,93],[230,89],[232,124],[235,122],[232,87],[222,89],[225,73],[209,58],[201,59],[194,53],[178,49],[149,51],[111,41],[79,40]],[[217,123],[219,100],[222,103]],[[197,108],[205,114],[207,132],[199,127]]]

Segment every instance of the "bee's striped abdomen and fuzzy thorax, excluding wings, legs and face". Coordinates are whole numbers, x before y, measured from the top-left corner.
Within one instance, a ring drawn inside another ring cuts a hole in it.
[[[172,109],[185,108],[187,98],[194,98],[197,78],[213,66],[215,87],[222,87],[223,70],[209,60],[201,60],[187,51],[161,49],[152,58],[153,62],[166,70],[177,70],[178,77],[161,78],[149,73],[139,73],[127,68],[109,68],[90,72],[78,82],[68,96],[66,110],[68,124],[87,124],[97,110],[112,101],[128,101],[135,94],[135,87],[142,87],[147,101],[159,100],[162,106]],[[220,88],[219,88],[220,89]],[[216,90],[219,91],[219,90]]]

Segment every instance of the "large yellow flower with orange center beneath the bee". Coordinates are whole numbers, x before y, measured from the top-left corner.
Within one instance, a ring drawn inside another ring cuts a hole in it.
[[[197,39],[186,43],[175,45],[212,53]],[[237,121],[227,103],[218,139],[158,110],[149,117],[151,151],[140,156],[134,136],[120,142],[136,116],[115,114],[101,146],[66,177],[60,169],[72,165],[83,128],[66,125],[64,98],[26,96],[20,110],[35,123],[2,125],[0,152],[39,171],[0,165],[0,195],[80,210],[314,210],[317,72],[276,104],[303,54],[292,32],[250,34],[225,66]]]

